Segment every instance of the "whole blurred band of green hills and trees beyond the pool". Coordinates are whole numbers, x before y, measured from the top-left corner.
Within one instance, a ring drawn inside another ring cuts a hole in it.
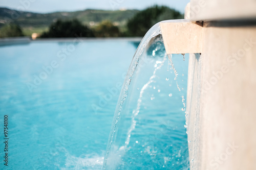
[[[31,36],[32,33],[37,33],[44,38],[74,37],[75,34],[82,34],[82,37],[142,37],[155,23],[181,19],[183,16],[179,11],[166,6],[153,6],[142,11],[87,9],[49,14],[0,8],[0,35]]]

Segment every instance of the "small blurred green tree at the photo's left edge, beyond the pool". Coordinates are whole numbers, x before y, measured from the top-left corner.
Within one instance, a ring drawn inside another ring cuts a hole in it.
[[[5,25],[0,29],[0,37],[20,37],[24,36],[22,29],[14,24],[11,23],[9,25]]]

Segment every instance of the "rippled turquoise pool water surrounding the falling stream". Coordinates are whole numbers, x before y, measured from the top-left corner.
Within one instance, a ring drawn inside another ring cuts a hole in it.
[[[137,45],[138,41],[126,39],[75,43],[36,41],[0,46],[0,128],[3,131],[4,115],[8,115],[9,138],[8,167],[2,160],[0,168],[101,169],[121,86]],[[182,65],[180,70],[186,74],[187,60],[180,60],[180,57],[173,57],[173,60],[176,68]],[[173,76],[168,79],[176,86]],[[186,75],[181,79],[185,91]],[[161,91],[168,91],[167,88],[172,87],[166,86]],[[173,153],[169,158],[179,155],[186,160],[185,113],[181,111],[181,93],[177,86],[175,88],[172,95],[178,104],[171,103],[170,112],[181,114],[168,120],[175,123],[172,128],[177,131],[169,127],[167,130],[175,132],[177,137],[171,134],[165,137],[168,143],[177,141],[175,147],[167,148]],[[157,106],[160,107],[160,103],[152,105],[152,109],[156,111]],[[167,109],[166,105],[164,107]],[[159,116],[155,119],[160,120],[165,115]],[[151,119],[147,121],[152,123]],[[138,129],[138,133],[141,130]],[[145,126],[143,130],[149,132],[151,127]],[[4,133],[1,133],[2,158],[5,154],[3,138]],[[161,150],[166,147],[163,139]],[[166,157],[166,161],[169,158]],[[142,158],[136,161],[146,163]],[[170,163],[165,166],[172,169]],[[178,167],[187,169],[187,163]]]

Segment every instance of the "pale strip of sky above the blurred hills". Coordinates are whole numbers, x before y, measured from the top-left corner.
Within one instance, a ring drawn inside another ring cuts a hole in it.
[[[0,0],[0,7],[38,13],[77,11],[85,9],[145,9],[165,5],[184,12],[189,0]]]

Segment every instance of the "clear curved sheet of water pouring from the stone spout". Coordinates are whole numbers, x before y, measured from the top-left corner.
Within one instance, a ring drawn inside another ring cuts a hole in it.
[[[157,23],[142,39],[124,80],[103,169],[189,169],[188,62],[185,55],[173,56],[165,52]]]

